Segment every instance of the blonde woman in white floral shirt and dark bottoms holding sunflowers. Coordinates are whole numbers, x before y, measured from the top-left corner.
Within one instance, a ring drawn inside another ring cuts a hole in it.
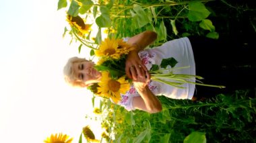
[[[215,95],[224,92],[222,89],[195,86],[188,83],[183,85],[185,88],[180,89],[151,81],[148,70],[152,64],[159,65],[163,58],[175,58],[178,61],[175,67],[189,66],[189,68],[178,70],[177,73],[199,75],[205,78],[204,83],[206,84],[225,85],[226,91],[233,89],[233,87],[238,89],[249,86],[255,87],[255,83],[253,85],[245,84],[248,79],[243,77],[245,75],[241,75],[247,72],[253,81],[256,79],[255,68],[238,69],[240,64],[255,65],[255,58],[249,55],[252,54],[251,49],[243,50],[238,46],[238,48],[232,47],[236,50],[232,52],[232,50],[228,51],[229,48],[227,47],[222,49],[218,46],[220,45],[219,40],[194,37],[179,38],[166,42],[162,46],[146,48],[156,38],[155,32],[146,31],[132,38],[124,39],[135,48],[129,52],[125,63],[125,73],[127,77],[133,79],[133,86],[125,95],[121,95],[122,99],[118,103],[128,111],[133,109],[141,109],[149,113],[161,111],[162,105],[156,95],[164,95],[172,99],[192,99],[193,96]],[[247,54],[247,56],[237,60],[241,52],[245,52],[243,54]],[[226,56],[228,53],[232,54],[231,58]],[[67,83],[79,87],[88,87],[93,83],[100,82],[101,79],[101,73],[94,68],[93,62],[77,57],[69,59],[64,68],[64,75]],[[191,79],[191,82],[195,82],[195,79]]]

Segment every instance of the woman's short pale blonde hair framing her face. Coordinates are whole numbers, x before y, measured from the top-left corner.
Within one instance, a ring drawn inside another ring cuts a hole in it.
[[[75,62],[85,62],[88,61],[86,58],[78,58],[77,56],[74,56],[72,58],[69,58],[67,60],[66,65],[63,68],[63,75],[65,82],[73,87],[86,87],[86,84],[83,81],[79,81],[74,74],[73,71],[73,63]]]

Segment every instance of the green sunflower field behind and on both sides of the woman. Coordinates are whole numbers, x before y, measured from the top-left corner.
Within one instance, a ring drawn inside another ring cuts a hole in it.
[[[245,1],[59,0],[59,9],[66,9],[69,23],[63,36],[79,42],[78,52],[90,48],[92,58],[104,35],[125,38],[152,30],[158,34],[153,47],[191,35],[218,39],[219,34],[237,31],[245,40],[256,32],[256,9]],[[93,105],[96,98],[92,95]],[[104,129],[102,138],[95,140],[90,128],[84,128],[79,142],[82,136],[88,142],[256,142],[253,89],[199,101],[158,98],[163,110],[152,114],[129,112],[102,98],[100,106],[93,107],[100,114],[96,120]]]

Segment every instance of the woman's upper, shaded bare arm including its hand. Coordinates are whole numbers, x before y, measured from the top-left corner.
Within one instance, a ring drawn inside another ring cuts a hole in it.
[[[152,31],[142,32],[129,38],[127,43],[133,46],[135,50],[129,52],[127,60],[125,62],[125,73],[127,77],[129,77],[130,79],[137,79],[138,76],[141,77],[142,74],[140,72],[141,70],[139,70],[140,68],[142,68],[144,71],[148,71],[146,66],[142,64],[138,52],[146,48],[148,45],[152,44],[152,42],[154,42],[156,38],[156,32]],[[134,70],[132,71],[131,68],[133,68]]]

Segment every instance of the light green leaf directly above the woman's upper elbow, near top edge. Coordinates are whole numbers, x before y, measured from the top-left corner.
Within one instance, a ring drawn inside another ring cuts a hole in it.
[[[135,4],[133,5],[133,10],[135,11],[135,13],[131,11],[131,15],[133,17],[132,23],[135,29],[142,28],[143,26],[145,26],[147,23],[150,22],[150,19],[148,19],[148,14],[146,13],[146,11],[142,9],[141,6]]]

